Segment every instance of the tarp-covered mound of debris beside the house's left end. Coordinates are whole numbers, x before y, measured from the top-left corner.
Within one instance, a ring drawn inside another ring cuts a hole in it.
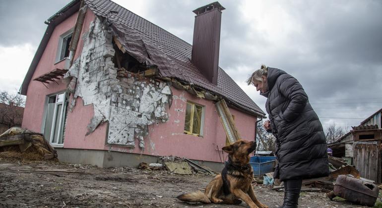
[[[12,127],[0,135],[0,156],[26,160],[57,158],[55,149],[43,134]]]

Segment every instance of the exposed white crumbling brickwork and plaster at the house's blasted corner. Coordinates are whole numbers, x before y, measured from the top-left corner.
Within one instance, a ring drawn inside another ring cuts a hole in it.
[[[139,148],[144,149],[148,126],[168,120],[170,87],[160,80],[114,67],[112,32],[99,18],[90,24],[82,39],[81,55],[65,74],[66,79],[71,79],[68,91],[74,93],[69,109],[81,97],[84,105],[94,106],[87,134],[108,122],[108,144],[134,148],[137,139]]]

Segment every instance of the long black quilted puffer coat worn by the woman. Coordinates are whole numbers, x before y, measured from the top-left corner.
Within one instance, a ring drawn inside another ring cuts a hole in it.
[[[268,67],[266,111],[276,137],[281,181],[329,174],[326,140],[316,112],[301,84],[285,71]]]

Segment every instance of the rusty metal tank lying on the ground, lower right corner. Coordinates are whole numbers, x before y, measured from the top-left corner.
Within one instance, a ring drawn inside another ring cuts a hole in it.
[[[329,192],[327,196],[330,200],[338,196],[359,205],[373,207],[378,194],[379,187],[375,184],[346,175],[339,175],[335,181],[334,190]]]

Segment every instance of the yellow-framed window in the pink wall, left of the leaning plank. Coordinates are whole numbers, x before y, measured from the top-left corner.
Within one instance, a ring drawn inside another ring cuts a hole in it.
[[[187,102],[185,133],[197,136],[203,135],[203,106]]]

